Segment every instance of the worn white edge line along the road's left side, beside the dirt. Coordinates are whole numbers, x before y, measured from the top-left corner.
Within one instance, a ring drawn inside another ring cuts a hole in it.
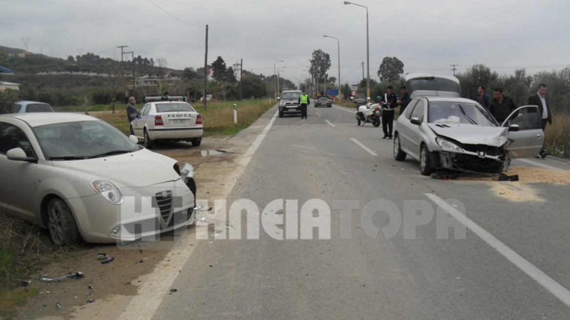
[[[246,153],[239,160],[238,166],[235,169],[233,175],[229,177],[229,183],[227,183],[225,190],[225,198],[234,188],[235,183],[238,181],[239,177],[246,169],[247,164],[253,158],[255,151],[257,151],[259,145],[263,141],[263,138],[267,135],[267,132],[271,129],[273,122],[277,118],[278,112],[275,112],[274,116],[271,118],[267,126],[251,144]],[[196,241],[195,239],[181,239],[181,241]],[[165,294],[169,292],[172,287],[179,271],[184,267],[192,252],[194,252],[196,245],[187,246],[184,249],[177,250],[177,255],[168,255],[169,261],[161,261],[156,268],[154,268],[153,273],[150,274],[148,279],[140,287],[137,296],[133,297],[131,302],[125,307],[125,310],[119,317],[119,320],[133,320],[133,319],[151,319],[160,306],[162,298]],[[152,284],[152,285],[146,285]]]

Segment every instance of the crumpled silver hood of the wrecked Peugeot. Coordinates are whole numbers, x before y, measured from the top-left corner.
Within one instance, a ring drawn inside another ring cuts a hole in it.
[[[500,147],[507,142],[508,128],[470,124],[427,124],[435,134],[466,145]]]

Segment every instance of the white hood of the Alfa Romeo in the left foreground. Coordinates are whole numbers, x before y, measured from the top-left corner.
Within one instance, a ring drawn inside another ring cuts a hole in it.
[[[109,180],[117,187],[147,187],[180,179],[174,171],[176,160],[147,149],[75,161],[52,161],[59,169],[75,171],[85,179]]]

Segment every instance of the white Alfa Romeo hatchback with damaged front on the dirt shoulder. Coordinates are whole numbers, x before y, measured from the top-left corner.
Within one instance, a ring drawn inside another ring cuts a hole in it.
[[[0,208],[56,245],[123,243],[192,224],[193,168],[75,113],[0,116]]]

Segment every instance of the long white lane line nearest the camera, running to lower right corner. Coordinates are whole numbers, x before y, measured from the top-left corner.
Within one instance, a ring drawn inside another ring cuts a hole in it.
[[[517,268],[522,270],[524,273],[538,282],[541,286],[551,292],[556,298],[559,298],[560,301],[562,301],[565,305],[570,307],[570,291],[568,291],[568,289],[564,288],[547,274],[536,268],[536,266],[532,265],[531,262],[528,262],[511,248],[507,247],[507,245],[503,244],[501,241],[492,236],[491,233],[488,233],[483,228],[479,227],[479,225],[474,223],[471,219],[467,218],[461,212],[455,210],[455,208],[450,206],[449,203],[443,201],[437,195],[431,193],[426,193],[425,195],[427,198],[437,204],[439,208],[447,211],[447,213],[453,216],[453,218],[457,219],[461,224],[465,225],[467,229],[475,233],[475,235],[479,236],[483,241],[494,248],[503,257],[507,258],[508,261],[511,261],[512,264],[514,264]]]

